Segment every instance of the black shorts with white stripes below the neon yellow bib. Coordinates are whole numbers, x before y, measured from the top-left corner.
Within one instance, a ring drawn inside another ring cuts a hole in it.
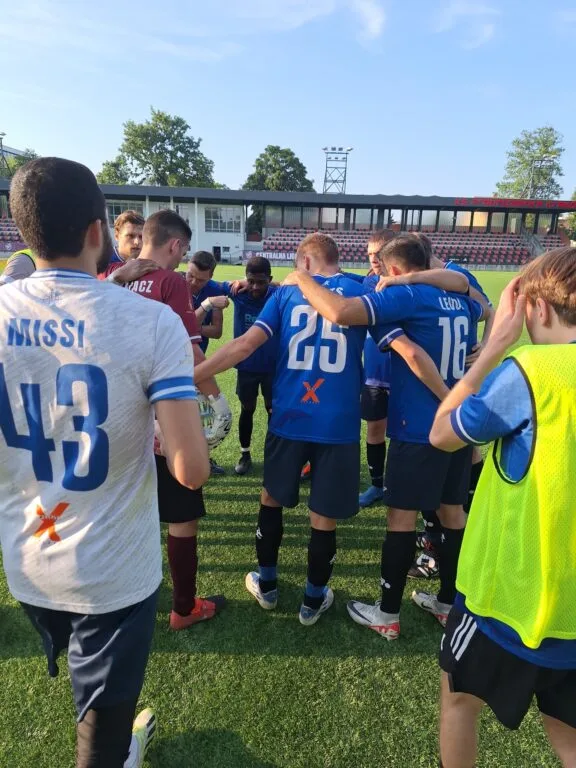
[[[442,637],[440,666],[452,692],[482,699],[506,728],[520,726],[534,697],[542,714],[576,728],[576,669],[538,667],[515,656],[455,608]]]

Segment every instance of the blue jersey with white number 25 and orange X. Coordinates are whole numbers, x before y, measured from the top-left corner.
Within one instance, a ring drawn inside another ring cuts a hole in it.
[[[341,296],[365,291],[342,274],[314,279]],[[366,327],[330,323],[296,286],[279,288],[255,325],[278,337],[270,431],[313,443],[357,442]],[[384,335],[381,328],[371,333],[375,339]]]

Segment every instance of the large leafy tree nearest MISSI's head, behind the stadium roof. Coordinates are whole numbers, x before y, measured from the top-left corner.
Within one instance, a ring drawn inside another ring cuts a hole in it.
[[[213,187],[214,163],[200,151],[202,139],[190,134],[182,117],[151,109],[143,123],[124,123],[118,156],[98,174],[103,184],[153,184],[166,187]]]

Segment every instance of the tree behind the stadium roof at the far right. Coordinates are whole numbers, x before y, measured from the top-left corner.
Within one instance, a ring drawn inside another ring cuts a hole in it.
[[[496,185],[496,197],[550,200],[562,194],[560,158],[563,137],[552,126],[522,131],[506,153],[504,178]]]

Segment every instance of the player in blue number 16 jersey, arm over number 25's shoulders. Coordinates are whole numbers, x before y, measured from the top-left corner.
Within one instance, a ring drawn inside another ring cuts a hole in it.
[[[411,235],[394,238],[381,250],[380,257],[389,275],[402,275],[413,283],[435,280],[438,275],[448,277],[451,283],[457,276],[444,270],[429,271],[426,253]],[[464,276],[457,277],[466,282]],[[468,297],[446,293],[433,285],[412,284],[345,298],[327,291],[303,272],[292,273],[289,280],[333,323],[387,323],[388,341],[395,336],[408,336],[429,354],[446,386],[451,387],[464,375],[470,326],[483,316],[482,307]],[[390,447],[384,482],[388,524],[382,545],[382,596],[375,605],[357,601],[348,604],[354,621],[387,640],[396,639],[400,633],[400,606],[415,553],[418,510],[440,508],[444,541],[438,596],[414,592],[413,599],[442,624],[454,601],[471,451],[464,448],[450,457],[430,445],[428,435],[437,407],[432,392],[412,374],[402,357],[393,355],[388,414]]]

